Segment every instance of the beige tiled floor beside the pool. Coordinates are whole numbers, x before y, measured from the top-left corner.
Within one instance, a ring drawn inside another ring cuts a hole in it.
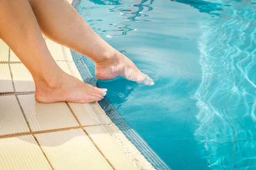
[[[45,40],[61,69],[81,79],[70,50]],[[34,92],[31,74],[0,40],[0,170],[154,169],[97,102],[44,104]]]

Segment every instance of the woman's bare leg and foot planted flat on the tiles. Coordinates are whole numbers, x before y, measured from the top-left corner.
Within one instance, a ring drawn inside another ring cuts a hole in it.
[[[0,0],[0,38],[28,68],[38,102],[93,102],[105,89],[94,88],[62,71],[44,42],[28,0]]]

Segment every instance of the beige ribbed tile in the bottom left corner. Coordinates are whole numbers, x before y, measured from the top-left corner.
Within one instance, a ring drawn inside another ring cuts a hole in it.
[[[1,170],[51,170],[32,135],[0,139]]]

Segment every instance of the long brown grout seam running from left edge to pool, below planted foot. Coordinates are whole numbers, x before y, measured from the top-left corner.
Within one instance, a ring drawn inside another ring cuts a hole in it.
[[[111,124],[112,123],[110,123],[110,124],[98,124],[98,125],[73,126],[73,127],[64,127],[64,128],[58,128],[58,129],[38,130],[38,131],[20,132],[20,133],[9,133],[9,134],[0,135],[0,139],[17,137],[17,136],[24,136],[24,135],[36,135],[36,134],[42,134],[42,133],[52,133],[52,132],[59,132],[59,131],[65,131],[65,130],[71,130],[71,129],[79,129],[79,128],[84,128],[84,127],[99,126],[99,125],[111,125]]]

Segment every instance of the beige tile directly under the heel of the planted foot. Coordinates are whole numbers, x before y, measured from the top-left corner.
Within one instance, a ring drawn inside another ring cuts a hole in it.
[[[38,103],[34,94],[18,98],[33,131],[79,126],[65,102]]]

